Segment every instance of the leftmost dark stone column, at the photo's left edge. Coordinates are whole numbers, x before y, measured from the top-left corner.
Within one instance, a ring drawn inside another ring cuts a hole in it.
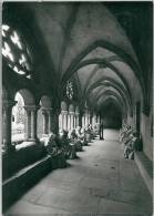
[[[3,111],[3,134],[2,143],[7,153],[10,153],[13,147],[11,145],[11,125],[12,125],[12,107],[16,105],[16,101],[3,101],[2,111]]]

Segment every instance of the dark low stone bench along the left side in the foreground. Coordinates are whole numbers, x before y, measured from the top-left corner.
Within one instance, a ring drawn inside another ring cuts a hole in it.
[[[2,183],[3,210],[19,198],[30,186],[37,183],[51,171],[51,157],[49,155],[28,165],[7,178]]]

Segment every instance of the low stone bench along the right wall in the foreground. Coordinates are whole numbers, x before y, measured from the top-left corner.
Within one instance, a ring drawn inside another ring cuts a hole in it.
[[[135,152],[135,163],[140,169],[140,173],[153,196],[153,163],[147,158],[143,152]]]

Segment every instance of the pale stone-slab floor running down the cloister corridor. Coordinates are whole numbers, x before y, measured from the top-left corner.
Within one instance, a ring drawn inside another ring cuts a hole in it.
[[[95,140],[52,171],[4,215],[152,215],[152,198],[134,161],[123,158],[117,131],[105,130]]]

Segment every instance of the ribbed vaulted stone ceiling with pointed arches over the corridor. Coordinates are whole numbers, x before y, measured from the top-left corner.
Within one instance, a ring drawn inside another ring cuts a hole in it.
[[[129,20],[133,22],[134,16],[136,25],[144,25],[141,20],[144,14],[140,13],[147,12],[148,4],[145,9],[135,4],[137,18],[132,8],[133,3]],[[44,83],[59,90],[59,95],[66,81],[75,75],[81,104],[86,101],[100,110],[105,101],[112,101],[122,112],[129,109],[130,114],[134,101],[141,99],[147,105],[144,78],[151,72],[142,66],[142,53],[131,38],[133,32],[131,34],[119,19],[122,17],[119,11],[124,11],[125,18],[124,6],[122,9],[115,2],[22,2],[6,3],[3,10],[3,22],[19,29],[30,45],[33,73],[40,79],[45,76]],[[152,38],[150,28],[147,30],[146,35],[141,33],[138,41]],[[147,47],[144,51],[148,54],[151,47]]]

